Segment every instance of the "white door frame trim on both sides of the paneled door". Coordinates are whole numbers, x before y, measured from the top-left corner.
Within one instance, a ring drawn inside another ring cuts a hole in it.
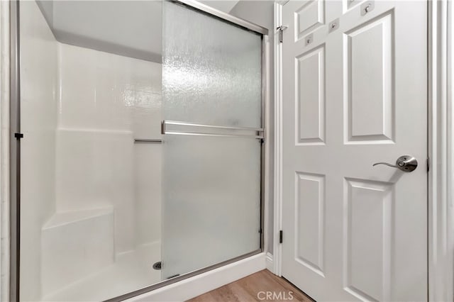
[[[282,276],[282,43],[287,1],[275,2],[275,204],[272,272]],[[453,301],[454,281],[454,3],[428,9],[428,301]],[[304,290],[304,289],[303,289]]]

